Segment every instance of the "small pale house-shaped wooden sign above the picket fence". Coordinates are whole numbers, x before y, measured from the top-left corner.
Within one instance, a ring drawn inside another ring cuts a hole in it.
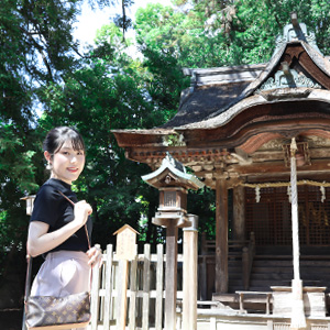
[[[119,260],[133,260],[136,255],[136,234],[139,232],[125,224],[113,234],[117,234],[117,257]]]

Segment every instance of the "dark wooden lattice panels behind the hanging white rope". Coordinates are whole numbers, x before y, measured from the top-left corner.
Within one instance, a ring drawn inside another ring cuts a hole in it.
[[[245,188],[246,234],[255,233],[257,245],[292,244],[292,205],[287,187]],[[330,188],[326,199],[319,187],[298,186],[299,240],[301,245],[330,245]]]

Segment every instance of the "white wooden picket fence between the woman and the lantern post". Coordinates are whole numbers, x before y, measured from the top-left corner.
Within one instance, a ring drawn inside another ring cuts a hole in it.
[[[164,319],[164,255],[163,245],[157,245],[157,253],[151,254],[150,244],[144,245],[144,253],[129,262],[129,284],[127,289],[127,329],[162,330]],[[113,246],[108,245],[103,253],[103,265],[95,267],[91,285],[90,330],[118,329],[117,320],[123,312],[119,301],[122,297],[120,283],[124,280],[124,267],[119,261]],[[178,255],[178,292],[182,299],[183,255]],[[178,322],[180,318],[178,316]],[[178,327],[179,328],[179,327]]]

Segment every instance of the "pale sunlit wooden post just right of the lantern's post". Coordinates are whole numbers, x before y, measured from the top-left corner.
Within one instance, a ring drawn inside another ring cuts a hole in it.
[[[198,217],[188,215],[190,227],[184,228],[183,330],[197,329]]]

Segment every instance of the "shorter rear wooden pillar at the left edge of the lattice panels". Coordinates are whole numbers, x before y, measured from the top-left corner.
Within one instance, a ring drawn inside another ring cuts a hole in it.
[[[233,239],[245,241],[245,188],[233,188]]]

